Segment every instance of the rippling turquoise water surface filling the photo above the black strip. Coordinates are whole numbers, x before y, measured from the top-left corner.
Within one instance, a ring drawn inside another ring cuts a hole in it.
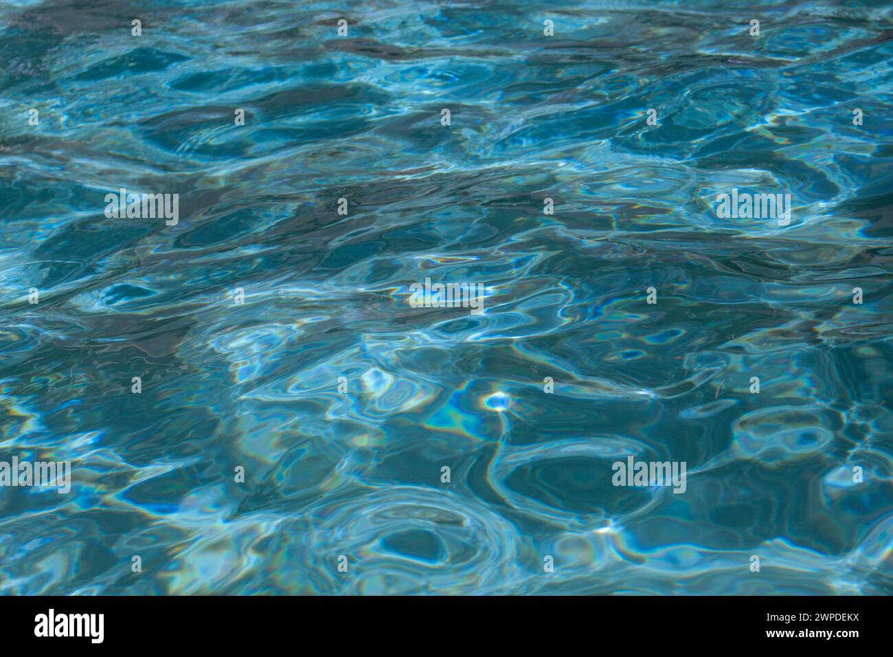
[[[0,460],[71,462],[0,592],[893,593],[889,3],[0,0],[0,61]]]

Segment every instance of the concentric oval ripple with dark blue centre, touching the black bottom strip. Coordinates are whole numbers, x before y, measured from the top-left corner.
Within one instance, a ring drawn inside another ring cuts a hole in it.
[[[321,593],[497,594],[526,575],[514,526],[447,490],[382,488],[323,501],[305,518],[309,526],[289,540],[302,542],[300,563],[316,565],[310,578]]]

